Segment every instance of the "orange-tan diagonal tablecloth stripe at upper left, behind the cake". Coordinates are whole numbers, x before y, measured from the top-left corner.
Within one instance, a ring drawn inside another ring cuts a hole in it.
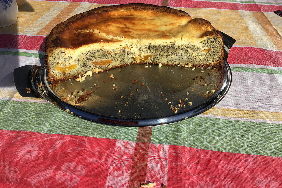
[[[65,21],[67,17],[80,5],[80,2],[71,2],[66,8],[64,8],[55,18],[53,18],[45,27],[43,27],[37,35],[48,35],[50,31],[62,21]]]

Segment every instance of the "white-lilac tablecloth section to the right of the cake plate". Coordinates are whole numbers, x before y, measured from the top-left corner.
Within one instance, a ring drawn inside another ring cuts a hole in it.
[[[281,88],[282,75],[232,72],[231,87],[216,107],[282,112]]]

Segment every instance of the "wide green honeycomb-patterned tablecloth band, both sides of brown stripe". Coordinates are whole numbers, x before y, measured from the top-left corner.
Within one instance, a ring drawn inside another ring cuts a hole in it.
[[[135,141],[137,128],[79,119],[52,104],[0,100],[0,129]],[[153,127],[151,142],[282,157],[282,125],[193,117]]]

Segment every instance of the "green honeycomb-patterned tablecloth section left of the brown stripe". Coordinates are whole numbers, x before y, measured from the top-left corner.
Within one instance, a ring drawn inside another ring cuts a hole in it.
[[[0,100],[0,129],[80,135],[135,141],[137,128],[114,127],[86,121],[50,103]]]

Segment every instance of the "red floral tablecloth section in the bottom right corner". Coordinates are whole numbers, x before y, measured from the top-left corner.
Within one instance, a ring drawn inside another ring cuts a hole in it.
[[[168,185],[282,187],[282,158],[169,146]]]

